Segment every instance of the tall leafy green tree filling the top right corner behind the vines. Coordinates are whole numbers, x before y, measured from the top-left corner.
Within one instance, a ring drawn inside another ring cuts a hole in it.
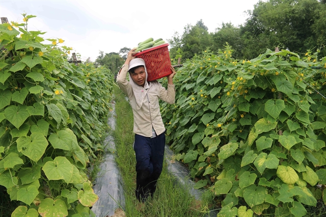
[[[314,25],[325,10],[317,0],[269,0],[258,2],[240,28],[242,56],[254,58],[266,48],[276,46],[305,53],[318,45]],[[318,24],[323,28],[322,20]],[[319,40],[323,40],[322,39]]]

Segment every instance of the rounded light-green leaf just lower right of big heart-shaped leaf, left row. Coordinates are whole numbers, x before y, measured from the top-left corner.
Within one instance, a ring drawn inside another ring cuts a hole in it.
[[[64,179],[69,183],[73,174],[73,166],[66,157],[56,157],[53,161],[47,161],[42,170],[49,180]]]

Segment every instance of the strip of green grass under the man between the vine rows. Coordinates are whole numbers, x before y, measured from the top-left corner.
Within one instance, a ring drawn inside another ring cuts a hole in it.
[[[176,184],[175,178],[167,171],[164,163],[163,171],[157,181],[154,198],[146,202],[144,211],[136,209],[138,201],[135,191],[135,156],[132,149],[134,140],[133,115],[129,103],[124,94],[115,87],[116,100],[116,129],[114,131],[117,149],[116,161],[124,180],[125,213],[126,216],[204,216],[208,210],[207,204],[199,203],[188,191]]]

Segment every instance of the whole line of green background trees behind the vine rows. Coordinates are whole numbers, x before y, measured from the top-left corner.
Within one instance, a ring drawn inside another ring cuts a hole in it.
[[[304,55],[326,45],[326,0],[259,1],[246,13],[249,17],[243,25],[222,23],[214,32],[208,32],[203,20],[185,25],[182,34],[176,32],[168,39],[171,58],[191,59],[207,48],[224,48],[226,43],[238,59],[253,59],[266,48],[288,48]],[[106,65],[116,74],[129,50],[124,47],[105,55],[100,51],[95,64]],[[320,56],[326,56],[326,49],[320,49]]]

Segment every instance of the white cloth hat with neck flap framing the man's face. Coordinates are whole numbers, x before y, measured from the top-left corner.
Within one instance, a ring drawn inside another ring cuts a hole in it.
[[[132,87],[133,95],[134,95],[134,97],[136,99],[136,102],[137,102],[137,109],[139,110],[143,105],[143,101],[144,101],[144,98],[145,98],[146,93],[147,93],[147,91],[145,91],[145,90],[149,88],[149,85],[148,85],[148,82],[147,82],[147,77],[148,77],[147,69],[146,69],[145,61],[143,59],[141,59],[141,58],[132,59],[129,62],[128,71],[130,71],[130,69],[132,69],[134,67],[137,67],[137,66],[144,66],[145,73],[146,73],[146,79],[145,79],[144,87],[134,83],[134,81],[132,80],[132,77],[129,74],[129,80],[130,80],[130,84],[131,84],[131,87]]]

